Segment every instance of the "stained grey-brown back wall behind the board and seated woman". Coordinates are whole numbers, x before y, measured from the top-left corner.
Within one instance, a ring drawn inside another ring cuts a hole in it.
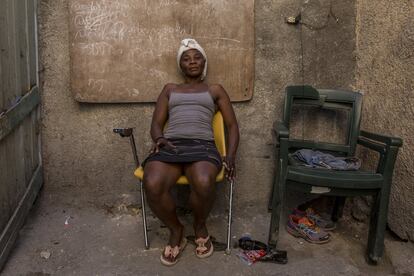
[[[151,146],[149,126],[154,106],[74,101],[69,87],[68,2],[44,0],[39,4],[45,194],[52,201],[82,208],[101,208],[125,198],[138,202],[128,141],[111,130],[135,127],[143,157]],[[364,11],[368,13],[369,7],[364,6]],[[285,23],[285,17],[299,12],[303,25]],[[255,2],[255,91],[250,102],[234,105],[241,130],[236,209],[251,206],[258,212],[266,211],[273,177],[271,127],[281,117],[287,85],[352,89],[358,72],[358,84],[365,87],[364,72],[355,70],[356,14],[354,0]],[[362,61],[360,57],[359,66]],[[382,72],[380,68],[378,72]],[[370,80],[368,75],[365,78]],[[388,91],[384,91],[385,95]],[[366,110],[373,108],[370,100],[366,102]],[[365,125],[370,121],[371,117],[364,117]],[[305,125],[313,132],[325,126]],[[401,168],[397,174],[408,183]]]

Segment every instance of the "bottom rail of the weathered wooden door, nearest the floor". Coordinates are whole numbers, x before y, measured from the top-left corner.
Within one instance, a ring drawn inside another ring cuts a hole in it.
[[[39,166],[26,189],[24,196],[21,198],[19,205],[13,212],[7,226],[0,236],[0,271],[3,268],[7,257],[14,245],[20,228],[25,218],[29,214],[30,208],[36,199],[37,194],[43,184],[42,167]]]

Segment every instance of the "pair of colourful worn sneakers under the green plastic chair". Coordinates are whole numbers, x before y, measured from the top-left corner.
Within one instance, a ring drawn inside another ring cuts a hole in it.
[[[322,217],[312,208],[305,211],[295,208],[289,215],[286,230],[294,237],[320,244],[331,240],[328,231],[334,230],[335,227],[333,221]]]

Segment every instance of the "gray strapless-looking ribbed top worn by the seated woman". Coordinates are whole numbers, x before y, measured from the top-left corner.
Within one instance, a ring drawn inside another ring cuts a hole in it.
[[[168,102],[168,125],[164,136],[167,139],[214,140],[212,129],[214,113],[214,100],[208,91],[172,92]]]

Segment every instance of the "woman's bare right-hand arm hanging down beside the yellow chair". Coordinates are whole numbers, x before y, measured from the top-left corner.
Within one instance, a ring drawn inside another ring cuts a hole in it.
[[[210,92],[213,94],[213,97],[215,97],[216,103],[221,111],[221,114],[223,115],[224,123],[227,128],[228,149],[224,162],[225,166],[227,166],[227,177],[232,179],[235,177],[235,161],[237,147],[239,145],[239,125],[237,124],[236,115],[234,114],[234,110],[226,90],[224,90],[221,85],[215,84],[210,86]]]

